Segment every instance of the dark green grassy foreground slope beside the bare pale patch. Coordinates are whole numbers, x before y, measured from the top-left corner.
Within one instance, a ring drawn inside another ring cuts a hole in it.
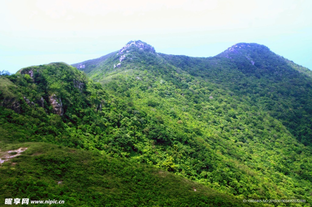
[[[0,147],[2,152],[28,147],[0,168],[1,205],[5,198],[65,200],[64,206],[243,205],[234,196],[167,171],[99,152],[3,140]]]

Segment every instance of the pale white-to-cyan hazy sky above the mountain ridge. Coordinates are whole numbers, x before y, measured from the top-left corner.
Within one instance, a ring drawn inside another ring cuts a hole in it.
[[[131,40],[194,57],[252,42],[312,70],[311,8],[311,0],[0,0],[0,70],[74,64]]]

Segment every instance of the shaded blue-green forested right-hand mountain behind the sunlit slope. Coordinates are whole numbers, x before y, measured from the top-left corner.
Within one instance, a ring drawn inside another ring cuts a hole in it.
[[[235,46],[213,58],[163,57],[191,75],[250,97],[252,105],[280,120],[301,143],[312,145],[312,72],[266,46]]]

